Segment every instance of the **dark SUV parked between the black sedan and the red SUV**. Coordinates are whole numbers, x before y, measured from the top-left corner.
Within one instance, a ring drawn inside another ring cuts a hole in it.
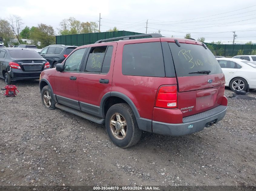
[[[52,68],[55,68],[56,64],[62,63],[63,60],[76,48],[77,46],[53,44],[42,49],[40,54],[50,63]]]

